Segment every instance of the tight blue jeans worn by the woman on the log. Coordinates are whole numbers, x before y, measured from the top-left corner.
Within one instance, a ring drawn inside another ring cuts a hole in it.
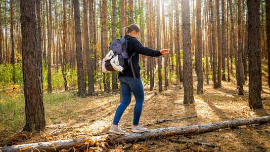
[[[133,111],[133,125],[137,126],[139,125],[139,120],[141,117],[143,103],[145,99],[142,80],[141,78],[137,78],[136,80],[134,80],[131,77],[120,77],[119,82],[121,85],[122,102],[118,105],[115,111],[113,124],[118,125],[120,118],[122,117],[126,107],[131,101],[131,93],[133,93],[136,99]]]

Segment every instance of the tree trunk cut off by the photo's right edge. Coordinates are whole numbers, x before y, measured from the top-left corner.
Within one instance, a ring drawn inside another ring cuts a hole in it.
[[[267,60],[268,60],[268,85],[270,89],[270,2],[266,1],[266,37],[267,37]]]

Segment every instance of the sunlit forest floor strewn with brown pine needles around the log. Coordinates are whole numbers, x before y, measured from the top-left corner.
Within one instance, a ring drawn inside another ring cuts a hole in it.
[[[265,73],[264,73],[265,76]],[[238,95],[236,81],[222,82],[222,87],[213,89],[212,82],[204,84],[204,93],[196,95],[197,80],[194,75],[195,103],[183,104],[184,89],[178,81],[170,82],[169,88],[158,92],[145,85],[145,102],[141,124],[152,123],[164,119],[175,119],[196,116],[184,120],[164,122],[147,126],[158,129],[172,126],[208,124],[214,122],[257,118],[270,115],[270,91],[267,79],[263,77],[262,103],[264,108],[252,111],[248,107],[248,82],[244,85],[244,95]],[[266,84],[265,84],[266,83]],[[55,93],[57,94],[57,93]],[[59,93],[58,93],[59,94]],[[72,93],[61,93],[67,96]],[[71,95],[72,96],[72,95]],[[98,136],[109,130],[114,112],[120,103],[119,93],[103,93],[83,99],[72,98],[72,101],[44,101],[46,111],[46,131],[27,133],[23,131],[0,130],[0,147],[7,144],[23,144],[44,141],[89,138]],[[133,120],[134,97],[125,110],[119,126],[130,127]],[[130,132],[130,129],[126,130]],[[85,135],[87,134],[87,135]],[[217,147],[197,145],[194,143],[175,143],[170,137],[147,139],[133,143],[128,149],[125,144],[107,146],[106,151],[270,151],[270,123],[220,129],[208,133],[195,133],[177,136],[179,139],[201,141],[216,144]],[[96,148],[101,150],[101,148]]]

